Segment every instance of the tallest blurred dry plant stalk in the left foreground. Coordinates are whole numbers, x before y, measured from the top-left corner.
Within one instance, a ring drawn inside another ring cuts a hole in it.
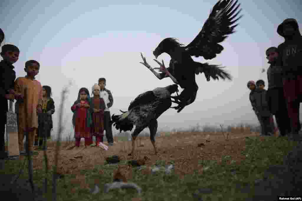
[[[70,85],[71,83],[69,83]],[[61,103],[60,103],[60,108],[59,108],[59,127],[58,127],[58,136],[56,140],[56,154],[55,154],[55,165],[53,167],[53,201],[56,201],[56,180],[57,180],[57,166],[58,166],[58,158],[59,158],[59,151],[60,151],[60,144],[61,144],[61,135],[63,132],[63,108],[64,108],[64,102],[65,102],[65,95],[68,92],[68,87],[63,89],[61,93]]]

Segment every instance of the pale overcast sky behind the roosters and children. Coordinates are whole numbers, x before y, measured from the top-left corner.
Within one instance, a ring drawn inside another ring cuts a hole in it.
[[[107,79],[106,88],[114,98],[111,115],[120,113],[119,109],[127,110],[140,93],[172,84],[169,78],[158,80],[140,64],[140,52],[151,66],[158,67],[152,52],[159,42],[175,37],[187,45],[201,30],[217,0],[127,1],[127,5],[122,5],[124,1],[29,2],[0,3],[5,43],[20,49],[14,64],[17,77],[25,75],[25,61],[40,62],[37,80],[52,87],[56,106],[53,133],[57,130],[60,93],[72,81],[64,105],[67,134],[72,131],[70,107],[79,89],[86,87],[91,92],[100,77]],[[223,52],[212,60],[193,58],[226,66],[233,80],[207,82],[203,74],[196,76],[199,90],[195,102],[180,113],[174,109],[163,113],[159,128],[257,123],[246,83],[263,79],[267,84],[266,72],[261,73],[262,68],[268,68],[265,50],[284,41],[277,34],[278,25],[285,18],[296,18],[300,32],[302,27],[300,0],[267,2],[239,0],[244,16],[236,33],[221,43]],[[168,65],[170,57],[162,54],[158,59]]]

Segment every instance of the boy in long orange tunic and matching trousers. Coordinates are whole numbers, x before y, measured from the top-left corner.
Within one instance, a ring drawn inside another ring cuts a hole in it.
[[[34,137],[38,128],[38,115],[42,112],[42,86],[35,76],[39,73],[40,64],[35,60],[25,62],[25,77],[15,81],[15,92],[18,99],[18,141],[20,153],[23,155],[24,132],[28,132],[29,152],[33,154]],[[26,91],[26,96],[24,93]],[[26,123],[27,122],[27,123]]]

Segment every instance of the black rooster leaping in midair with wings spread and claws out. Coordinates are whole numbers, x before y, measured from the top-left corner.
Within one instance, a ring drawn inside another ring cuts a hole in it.
[[[178,84],[184,89],[179,96],[172,97],[174,99],[172,102],[178,103],[178,106],[173,107],[178,110],[177,112],[180,112],[185,105],[194,102],[196,98],[198,86],[195,81],[195,74],[204,73],[207,81],[210,81],[210,77],[214,80],[219,80],[219,77],[223,80],[226,78],[231,80],[231,75],[224,71],[222,69],[223,67],[196,62],[191,56],[202,56],[204,59],[213,59],[217,54],[221,53],[223,46],[218,43],[223,42],[227,35],[234,33],[233,30],[238,24],[231,25],[242,17],[239,16],[237,19],[233,20],[241,11],[240,9],[236,12],[240,6],[240,4],[236,6],[237,2],[238,1],[233,4],[233,0],[218,1],[216,5],[214,5],[209,18],[204,23],[201,31],[187,46],[177,42],[177,39],[175,38],[163,39],[153,51],[155,58],[162,53],[167,53],[171,57],[168,68],[165,68],[164,61],[160,63],[154,59],[154,61],[160,65],[160,68],[154,69],[159,69],[162,73],[157,73],[146,62],[146,58],[143,57],[143,54],[141,53],[143,62],[140,63],[149,68],[159,80],[170,77],[175,84]],[[233,17],[231,17],[232,15]]]

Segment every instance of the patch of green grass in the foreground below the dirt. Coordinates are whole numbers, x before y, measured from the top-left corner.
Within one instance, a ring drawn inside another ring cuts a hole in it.
[[[141,200],[198,200],[193,194],[200,188],[209,188],[211,193],[199,193],[203,200],[245,200],[253,195],[255,180],[263,178],[264,171],[271,165],[282,165],[283,157],[292,150],[296,143],[284,138],[267,137],[261,141],[258,137],[246,138],[246,150],[242,152],[246,159],[240,165],[236,164],[230,156],[223,156],[222,162],[199,161],[203,167],[208,167],[203,174],[195,171],[193,174],[185,175],[180,179],[177,174],[166,175],[164,171],[156,174],[143,174],[141,170],[133,168],[134,182],[142,188]],[[171,161],[173,164],[173,161]],[[122,161],[120,164],[127,164]],[[157,161],[157,165],[165,165],[163,161]],[[5,170],[0,173],[17,173],[20,165],[17,161],[6,161]],[[104,174],[99,174],[102,169]],[[81,171],[85,175],[85,181],[90,188],[94,187],[95,179],[100,183],[100,192],[96,195],[89,193],[88,189],[81,189],[79,183],[71,181],[76,175],[65,175],[64,179],[57,182],[58,200],[118,200],[130,201],[133,197],[138,197],[136,190],[111,190],[109,193],[103,192],[105,183],[112,182],[113,172],[117,165],[99,165],[94,169]],[[51,199],[52,170],[48,175],[44,171],[34,173],[34,182],[42,187],[44,177],[48,177],[48,194]],[[21,178],[27,178],[27,170]],[[250,193],[242,191],[239,187],[249,186]],[[76,189],[72,191],[72,189]]]

